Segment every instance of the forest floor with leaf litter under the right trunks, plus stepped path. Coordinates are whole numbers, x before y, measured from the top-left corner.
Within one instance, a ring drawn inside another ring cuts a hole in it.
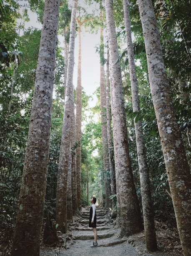
[[[96,210],[97,212],[97,210]],[[156,222],[158,251],[146,251],[144,231],[128,238],[118,238],[120,228],[102,209],[98,210],[97,230],[98,247],[90,248],[93,242],[93,231],[87,227],[88,209],[83,208],[81,217],[74,217],[74,223],[68,228],[67,234],[58,232],[59,241],[55,247],[42,243],[40,256],[183,256],[178,232],[170,230],[164,223]],[[0,229],[0,256],[10,255],[13,230]]]

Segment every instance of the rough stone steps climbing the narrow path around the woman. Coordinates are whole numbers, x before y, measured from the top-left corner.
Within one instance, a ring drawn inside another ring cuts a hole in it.
[[[119,239],[120,229],[113,228],[108,220],[108,210],[96,206],[98,246],[90,248],[94,240],[93,229],[88,227],[90,206],[83,208],[81,217],[75,217],[68,228],[67,245],[60,248],[58,256],[138,256],[127,238]],[[40,256],[44,256],[40,254]],[[52,255],[52,254],[48,254]],[[45,255],[46,256],[46,255]]]

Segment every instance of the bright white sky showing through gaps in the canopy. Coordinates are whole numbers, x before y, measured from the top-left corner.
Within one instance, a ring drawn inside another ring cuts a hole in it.
[[[69,4],[72,3],[72,0],[69,0]],[[91,13],[93,5],[87,7],[83,3],[83,0],[78,0],[78,4],[86,8],[88,13]],[[41,24],[37,22],[36,13],[32,13],[30,10],[28,12],[30,22],[26,23],[25,28],[30,26],[41,28]],[[95,46],[99,44],[100,34],[90,34],[85,32],[83,29],[82,33],[82,86],[84,91],[88,95],[93,96],[93,92],[99,86],[100,81],[100,62],[99,55],[95,52]],[[59,36],[60,46],[62,45],[62,36]],[[77,67],[78,67],[78,35],[75,39],[75,65],[74,65],[74,74],[73,74],[73,84],[74,87],[77,85]],[[90,106],[95,106],[96,97],[93,96],[93,101],[89,102]]]

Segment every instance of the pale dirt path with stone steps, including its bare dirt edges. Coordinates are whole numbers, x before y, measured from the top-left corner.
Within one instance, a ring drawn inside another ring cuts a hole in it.
[[[76,219],[65,236],[68,240],[64,247],[41,247],[40,256],[170,256],[172,254],[146,252],[143,242],[144,233],[126,239],[118,239],[119,229],[107,222],[106,212],[96,207],[98,247],[90,248],[93,242],[93,231],[88,228],[89,208],[83,208],[82,218]]]

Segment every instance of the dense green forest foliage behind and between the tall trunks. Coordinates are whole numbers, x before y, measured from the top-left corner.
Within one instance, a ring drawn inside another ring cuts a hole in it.
[[[188,163],[191,165],[191,3],[189,0],[153,0],[152,2],[160,31],[163,57],[173,107],[176,111],[178,129],[183,138]],[[80,1],[78,4],[80,5]],[[2,230],[9,230],[7,231],[9,238],[12,236],[15,226],[41,36],[41,31],[38,28],[25,29],[25,23],[29,19],[29,9],[38,14],[38,20],[42,23],[43,6],[43,1],[30,1],[28,3],[5,0],[0,3],[0,226]],[[64,4],[60,5],[59,34],[63,33],[63,26],[66,26],[67,22],[70,23],[70,8],[70,5],[68,7]],[[90,33],[98,33],[100,26],[99,10],[95,9],[93,13],[88,13],[88,3],[86,9],[78,8],[77,15],[85,18],[91,17],[92,20],[88,21],[85,26]],[[158,222],[164,223],[169,229],[173,229],[176,227],[176,218],[149,86],[146,50],[138,5],[135,0],[131,1],[131,30],[133,32],[133,49],[140,97],[140,111],[136,112],[133,111],[132,107],[123,1],[113,1],[113,9],[120,52],[120,57],[116,62],[120,62],[122,70],[129,152],[138,202],[142,209],[134,119],[135,122],[139,120],[142,122],[154,218]],[[77,26],[76,34],[78,32]],[[69,41],[69,38],[67,40]],[[106,63],[106,37],[104,37],[104,43],[101,47],[104,49],[102,61]],[[98,54],[101,52],[101,47],[97,46]],[[44,219],[48,213],[55,219],[58,163],[64,113],[64,70],[63,48],[60,47],[58,41]],[[90,107],[89,101],[91,101],[92,96],[87,95],[84,90],[82,92],[82,206],[88,205],[90,196],[93,195],[98,197],[99,204],[105,206],[106,192],[99,87],[95,88],[95,96],[97,103],[94,107]],[[112,198],[115,197],[116,195],[112,195]],[[115,216],[116,208],[114,207],[113,217]],[[0,230],[0,232],[4,231]]]

